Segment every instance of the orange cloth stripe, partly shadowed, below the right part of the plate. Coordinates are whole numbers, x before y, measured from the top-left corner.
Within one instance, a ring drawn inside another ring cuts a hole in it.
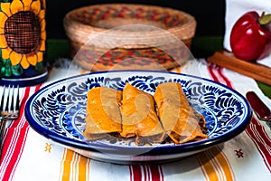
[[[206,180],[235,180],[229,161],[219,147],[203,151],[196,157]]]

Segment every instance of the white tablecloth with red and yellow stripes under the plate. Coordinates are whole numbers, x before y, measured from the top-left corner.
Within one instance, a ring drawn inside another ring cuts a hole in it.
[[[271,100],[258,89],[257,83],[236,72],[217,67],[205,60],[188,62],[174,72],[188,73],[218,81],[245,95],[254,90],[271,108]],[[78,74],[72,69],[69,73]],[[67,76],[64,68],[53,68],[51,81]],[[46,84],[47,84],[46,83]],[[5,134],[1,157],[0,180],[270,180],[271,130],[264,122],[252,119],[248,129],[223,145],[192,157],[167,164],[115,165],[82,157],[43,138],[29,127],[23,108],[28,98],[44,85],[22,89],[21,116]]]

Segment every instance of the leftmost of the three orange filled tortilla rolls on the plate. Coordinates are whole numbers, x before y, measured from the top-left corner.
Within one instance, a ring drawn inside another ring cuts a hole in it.
[[[90,140],[111,139],[112,134],[121,132],[119,104],[122,92],[105,87],[88,91],[86,129],[83,135]]]

